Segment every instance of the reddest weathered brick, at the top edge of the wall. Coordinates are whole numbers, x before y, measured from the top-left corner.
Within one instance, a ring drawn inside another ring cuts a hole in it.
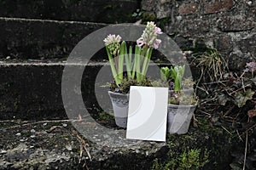
[[[212,2],[204,3],[204,14],[218,13],[233,7],[233,0],[212,0]]]

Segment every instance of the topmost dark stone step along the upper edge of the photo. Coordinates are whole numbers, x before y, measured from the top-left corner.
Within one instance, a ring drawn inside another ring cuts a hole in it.
[[[0,2],[0,16],[41,20],[79,20],[115,23],[131,22],[140,8],[139,0],[35,0]]]

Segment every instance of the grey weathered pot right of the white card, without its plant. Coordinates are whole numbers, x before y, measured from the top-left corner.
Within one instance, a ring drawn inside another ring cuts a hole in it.
[[[168,105],[167,132],[188,133],[189,124],[196,105]]]

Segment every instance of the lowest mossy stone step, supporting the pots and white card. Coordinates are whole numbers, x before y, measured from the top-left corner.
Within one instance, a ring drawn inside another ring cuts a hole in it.
[[[0,169],[130,170],[167,169],[168,165],[176,167],[171,169],[189,169],[189,165],[197,169],[196,166],[204,165],[200,169],[222,170],[230,169],[230,152],[243,144],[236,134],[232,137],[224,128],[209,126],[203,119],[198,127],[190,127],[187,134],[166,135],[166,143],[129,140],[124,135],[116,139],[114,133],[121,131],[112,132],[93,133],[82,139],[67,120],[1,122]],[[101,140],[103,136],[107,139]],[[92,137],[96,142],[88,140]]]

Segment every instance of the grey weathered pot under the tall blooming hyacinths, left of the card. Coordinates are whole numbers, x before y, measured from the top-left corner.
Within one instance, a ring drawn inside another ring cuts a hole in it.
[[[119,94],[108,91],[108,95],[113,105],[115,124],[119,127],[127,127],[129,94]]]

